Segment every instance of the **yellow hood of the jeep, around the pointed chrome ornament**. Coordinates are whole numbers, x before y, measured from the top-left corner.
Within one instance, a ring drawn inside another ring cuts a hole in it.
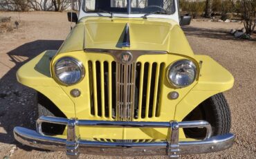
[[[122,48],[125,26],[129,25],[130,47]],[[66,53],[86,48],[114,50],[161,50],[193,55],[178,24],[170,19],[88,17],[73,28],[59,50]]]

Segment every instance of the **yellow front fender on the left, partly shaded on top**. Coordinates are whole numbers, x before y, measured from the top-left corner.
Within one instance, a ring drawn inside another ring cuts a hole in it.
[[[51,76],[51,59],[56,53],[57,50],[46,50],[21,66],[16,74],[17,80],[51,99],[67,118],[75,118],[74,103]]]

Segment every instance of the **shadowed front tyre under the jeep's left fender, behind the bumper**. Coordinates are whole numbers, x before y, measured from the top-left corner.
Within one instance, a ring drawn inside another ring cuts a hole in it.
[[[38,117],[44,115],[66,118],[66,115],[64,115],[51,100],[42,95],[42,93],[37,93],[37,108]],[[65,125],[61,124],[42,123],[42,131],[46,135],[62,135],[65,127]]]

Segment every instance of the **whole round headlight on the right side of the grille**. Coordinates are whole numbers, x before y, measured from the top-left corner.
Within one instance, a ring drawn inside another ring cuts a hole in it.
[[[189,86],[196,79],[196,66],[188,59],[182,59],[170,66],[167,79],[176,87]]]

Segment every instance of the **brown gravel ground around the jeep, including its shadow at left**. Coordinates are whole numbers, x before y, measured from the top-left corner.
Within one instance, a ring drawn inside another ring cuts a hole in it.
[[[60,47],[70,32],[66,13],[0,12],[0,16],[19,22],[18,29],[0,33],[0,158],[66,158],[63,152],[26,147],[12,135],[16,126],[35,129],[37,114],[35,91],[19,84],[15,73],[42,51]],[[235,39],[228,34],[231,28],[242,27],[239,23],[194,20],[183,28],[194,53],[210,55],[235,77],[235,86],[224,95],[232,112],[231,132],[237,138],[234,146],[226,151],[182,158],[256,158],[256,42]],[[80,158],[107,157],[82,155]]]

